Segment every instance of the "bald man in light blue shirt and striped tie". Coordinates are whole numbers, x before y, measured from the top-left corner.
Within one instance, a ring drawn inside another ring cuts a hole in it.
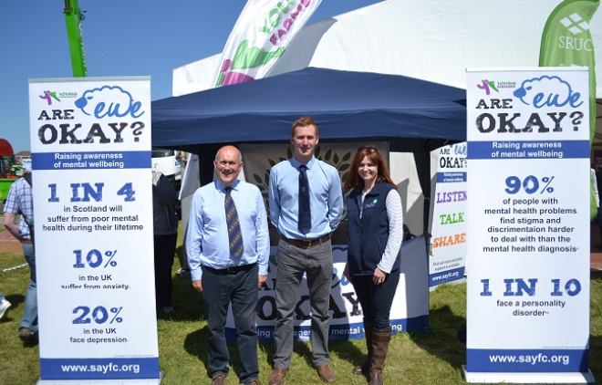
[[[212,385],[225,384],[228,349],[224,327],[232,302],[244,384],[258,380],[255,307],[267,278],[269,234],[259,189],[236,178],[243,168],[240,151],[224,146],[213,161],[217,181],[192,197],[186,253],[192,286],[202,292],[209,335],[208,367]]]

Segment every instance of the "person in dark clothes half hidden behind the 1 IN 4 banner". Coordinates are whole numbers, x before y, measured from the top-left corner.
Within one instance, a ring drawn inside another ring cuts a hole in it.
[[[155,299],[158,311],[173,313],[171,266],[178,238],[178,217],[173,205],[178,194],[161,172],[152,172],[152,234],[155,259]]]

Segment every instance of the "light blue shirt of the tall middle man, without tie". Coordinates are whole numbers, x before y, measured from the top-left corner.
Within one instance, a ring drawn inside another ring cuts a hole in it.
[[[343,189],[337,169],[324,161],[308,161],[311,230],[301,234],[299,219],[299,170],[304,163],[291,158],[270,172],[270,216],[280,234],[289,239],[317,239],[337,228],[343,214]]]

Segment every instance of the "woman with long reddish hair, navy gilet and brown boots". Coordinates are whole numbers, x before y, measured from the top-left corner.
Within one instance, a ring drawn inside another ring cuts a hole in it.
[[[358,295],[368,346],[368,357],[353,372],[369,373],[370,385],[379,385],[391,338],[390,309],[400,282],[403,208],[379,149],[371,145],[358,149],[344,189],[349,192],[345,276]]]

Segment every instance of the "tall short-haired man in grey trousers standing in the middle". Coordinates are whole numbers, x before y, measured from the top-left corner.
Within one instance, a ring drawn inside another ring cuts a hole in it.
[[[270,215],[278,229],[278,271],[275,286],[276,324],[274,370],[270,385],[280,385],[293,355],[293,313],[297,291],[307,275],[311,304],[313,363],[320,379],[335,380],[328,361],[328,305],[332,281],[332,246],[343,213],[337,169],[314,158],[317,125],[310,117],[293,123],[293,158],[270,172]]]

